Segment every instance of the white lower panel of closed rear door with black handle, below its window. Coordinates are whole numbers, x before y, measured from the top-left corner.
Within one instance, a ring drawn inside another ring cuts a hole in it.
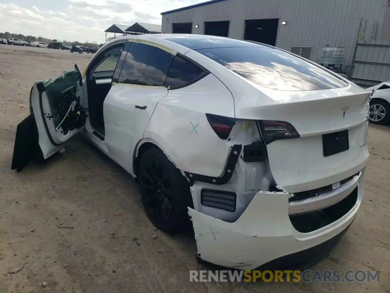
[[[164,87],[114,84],[106,96],[105,144],[110,157],[130,173],[133,150],[144,136],[156,105],[167,94]]]

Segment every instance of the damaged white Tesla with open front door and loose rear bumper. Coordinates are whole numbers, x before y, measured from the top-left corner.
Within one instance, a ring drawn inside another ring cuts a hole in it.
[[[362,202],[371,95],[273,46],[126,36],[83,74],[35,82],[12,168],[82,132],[137,178],[156,227],[192,222],[198,261],[299,266],[335,246]]]

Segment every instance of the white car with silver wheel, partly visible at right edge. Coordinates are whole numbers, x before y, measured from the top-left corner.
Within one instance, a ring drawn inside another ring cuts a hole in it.
[[[385,125],[390,122],[390,81],[381,82],[367,88],[375,90],[370,101],[369,121],[374,124]]]

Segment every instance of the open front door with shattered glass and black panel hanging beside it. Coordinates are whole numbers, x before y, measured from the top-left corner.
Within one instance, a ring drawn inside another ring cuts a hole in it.
[[[35,82],[30,93],[32,111],[16,129],[12,170],[20,172],[36,156],[47,159],[83,129],[87,117],[83,80],[74,67],[53,79]]]

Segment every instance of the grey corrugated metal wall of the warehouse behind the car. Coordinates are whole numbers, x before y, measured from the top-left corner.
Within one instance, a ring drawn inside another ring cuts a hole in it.
[[[276,46],[312,47],[310,59],[318,63],[322,47],[346,47],[345,67],[352,63],[361,19],[360,42],[390,41],[389,16],[388,0],[227,0],[165,14],[162,32],[171,33],[172,23],[192,22],[192,33],[203,34],[204,21],[230,20],[229,37],[243,39],[245,20],[279,18]]]

